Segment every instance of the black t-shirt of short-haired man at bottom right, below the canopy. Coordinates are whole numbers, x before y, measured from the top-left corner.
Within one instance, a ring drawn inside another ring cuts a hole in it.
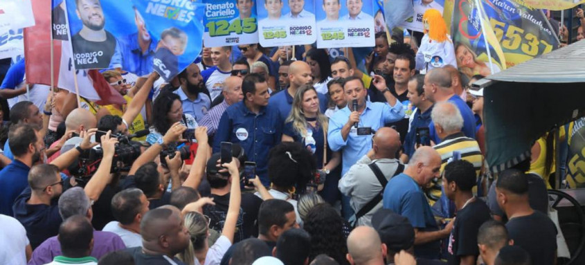
[[[520,246],[532,259],[533,265],[555,264],[557,253],[557,227],[546,214],[534,211],[533,214],[514,217],[506,223],[514,246]]]

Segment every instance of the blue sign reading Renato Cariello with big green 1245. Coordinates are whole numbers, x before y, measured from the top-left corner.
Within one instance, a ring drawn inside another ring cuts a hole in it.
[[[203,24],[207,47],[258,43],[253,0],[206,0]]]

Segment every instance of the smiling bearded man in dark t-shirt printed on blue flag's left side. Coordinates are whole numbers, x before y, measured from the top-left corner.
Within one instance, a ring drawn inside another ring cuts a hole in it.
[[[100,0],[75,0],[75,13],[83,27],[71,37],[75,65],[78,68],[116,68],[121,53],[116,37],[104,29],[105,18]]]

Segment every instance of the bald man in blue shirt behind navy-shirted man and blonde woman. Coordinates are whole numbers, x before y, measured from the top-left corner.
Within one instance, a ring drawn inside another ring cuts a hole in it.
[[[311,67],[303,61],[295,61],[289,66],[289,88],[273,93],[269,99],[269,105],[273,105],[278,109],[280,120],[285,122],[292,109],[292,101],[297,89],[303,84],[313,84],[313,77],[311,75]],[[319,98],[319,108],[321,113],[327,110],[327,97],[321,93],[317,93]],[[284,124],[283,124],[284,125]]]

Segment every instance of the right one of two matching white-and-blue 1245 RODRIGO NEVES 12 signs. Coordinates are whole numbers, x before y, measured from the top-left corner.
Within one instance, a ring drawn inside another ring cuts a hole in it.
[[[375,45],[372,0],[316,0],[317,48]]]

